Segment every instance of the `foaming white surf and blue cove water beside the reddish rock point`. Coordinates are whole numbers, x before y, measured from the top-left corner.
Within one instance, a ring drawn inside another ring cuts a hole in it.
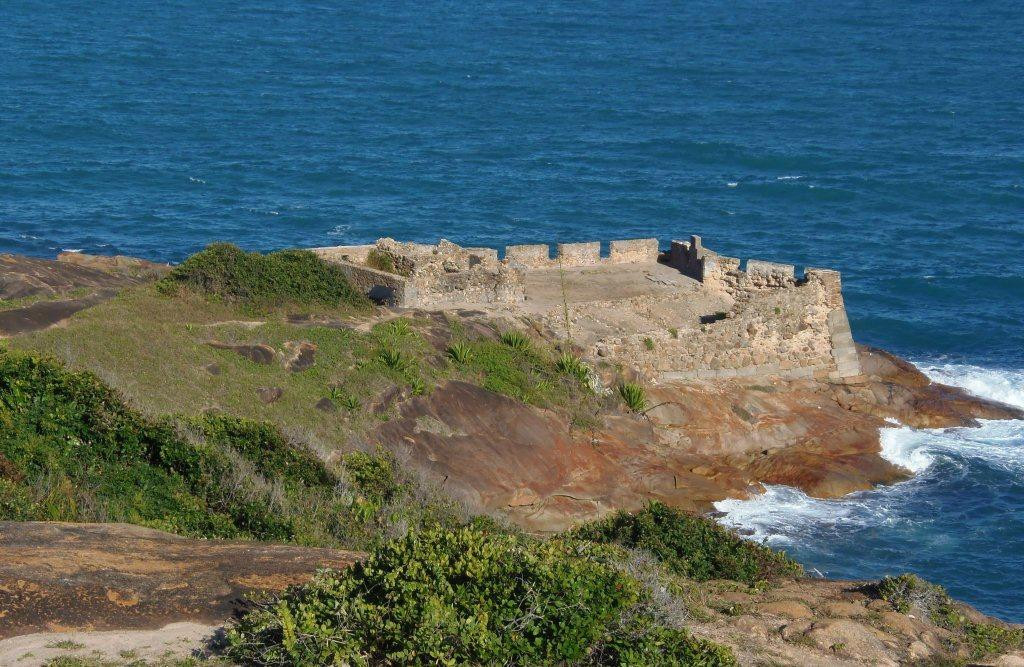
[[[920,367],[935,381],[1024,407],[1024,371]],[[787,550],[811,574],[914,571],[988,613],[1024,620],[1024,591],[985,585],[992,571],[1024,567],[1024,421],[893,425],[881,440],[882,456],[913,472],[910,480],[833,500],[766,486],[759,496],[715,503],[719,520]]]

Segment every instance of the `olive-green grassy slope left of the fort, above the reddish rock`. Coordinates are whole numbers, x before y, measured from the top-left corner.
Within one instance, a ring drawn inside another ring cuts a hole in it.
[[[517,351],[490,340],[473,341],[471,360],[451,362],[421,334],[426,322],[406,326],[381,324],[368,330],[370,318],[350,309],[303,308],[350,329],[290,324],[287,311],[254,316],[244,307],[210,301],[184,291],[165,295],[153,286],[124,291],[115,299],[82,311],[66,326],[5,341],[13,349],[63,360],[88,370],[122,391],[151,415],[198,415],[216,409],[250,419],[265,419],[286,432],[299,432],[328,449],[348,449],[377,419],[368,409],[389,387],[423,390],[459,377],[543,406],[567,412],[597,409],[594,397],[575,378],[560,373],[555,355],[543,346]],[[292,311],[295,312],[295,311]],[[436,325],[434,325],[436,326]],[[358,327],[358,329],[356,329]],[[455,325],[453,336],[459,336]],[[217,349],[210,341],[264,343],[279,352],[286,341],[317,346],[315,364],[292,373],[284,364],[255,364],[237,352]],[[398,350],[404,368],[389,368],[381,349]],[[209,372],[215,365],[218,374]],[[257,398],[260,387],[284,389],[273,404]],[[354,397],[361,408],[337,413],[316,409],[324,398],[340,405]]]

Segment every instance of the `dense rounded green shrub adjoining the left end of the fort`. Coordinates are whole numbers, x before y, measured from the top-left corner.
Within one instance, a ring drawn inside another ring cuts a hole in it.
[[[352,287],[341,267],[308,250],[261,255],[215,243],[175,266],[160,282],[164,291],[174,286],[253,308],[289,304],[370,307],[370,301]]]

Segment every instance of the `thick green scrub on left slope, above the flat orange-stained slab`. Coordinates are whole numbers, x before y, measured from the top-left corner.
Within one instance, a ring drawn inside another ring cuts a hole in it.
[[[348,547],[389,522],[458,523],[450,501],[413,488],[384,454],[331,470],[270,424],[147,419],[90,373],[0,352],[0,519]]]

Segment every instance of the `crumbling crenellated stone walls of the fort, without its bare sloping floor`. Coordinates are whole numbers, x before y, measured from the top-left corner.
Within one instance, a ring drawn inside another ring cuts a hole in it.
[[[696,236],[673,241],[668,253],[659,253],[656,239],[612,241],[607,257],[601,256],[599,242],[560,243],[554,256],[545,244],[513,245],[505,249],[502,260],[494,249],[463,248],[443,240],[425,245],[381,239],[374,245],[314,250],[342,265],[355,285],[378,300],[412,307],[521,303],[525,299],[524,275],[531,270],[614,269],[620,264],[662,264],[664,269],[668,264],[708,291],[688,288],[683,296],[669,290],[649,298],[687,300],[689,312],[701,302],[720,304],[715,307],[731,305],[726,310],[682,318],[685,321],[673,321],[653,331],[603,337],[595,345],[602,356],[667,379],[772,376],[838,380],[860,374],[838,272],[808,268],[798,276],[792,264],[759,259],[748,260],[741,268],[739,259],[708,250]],[[379,268],[381,257],[394,273]],[[648,269],[638,273],[629,267],[610,275],[636,281],[643,272],[649,276]],[[675,284],[671,278],[659,280]],[[646,312],[649,305],[608,298],[601,307]],[[643,321],[650,322],[646,316]]]

